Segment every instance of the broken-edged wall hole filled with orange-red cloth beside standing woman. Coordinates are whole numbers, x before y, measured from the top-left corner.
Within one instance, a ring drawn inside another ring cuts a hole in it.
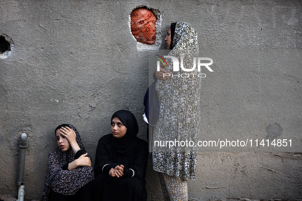
[[[130,31],[137,41],[138,48],[156,48],[160,45],[161,17],[156,9],[147,6],[134,8],[129,15]]]

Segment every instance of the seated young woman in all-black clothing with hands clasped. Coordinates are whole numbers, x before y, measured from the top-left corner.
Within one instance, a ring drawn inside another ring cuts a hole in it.
[[[147,200],[148,143],[136,137],[138,124],[127,110],[111,117],[111,134],[100,138],[94,180],[95,200]]]

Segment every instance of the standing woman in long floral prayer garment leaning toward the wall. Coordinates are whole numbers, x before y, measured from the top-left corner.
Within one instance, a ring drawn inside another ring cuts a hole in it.
[[[197,33],[186,22],[172,23],[165,38],[169,56],[183,58],[183,67],[192,69],[194,57],[198,56]],[[199,135],[200,79],[194,71],[173,71],[173,63],[167,58],[168,66],[156,71],[156,91],[160,103],[154,141],[194,141]],[[196,62],[197,63],[197,62]],[[196,64],[195,63],[195,64]],[[163,73],[173,77],[163,78]],[[191,74],[190,74],[191,73]],[[195,73],[193,77],[192,73]],[[155,144],[154,144],[155,145]],[[153,169],[159,172],[159,180],[165,200],[188,200],[188,179],[195,179],[197,149],[189,146],[153,147]]]

